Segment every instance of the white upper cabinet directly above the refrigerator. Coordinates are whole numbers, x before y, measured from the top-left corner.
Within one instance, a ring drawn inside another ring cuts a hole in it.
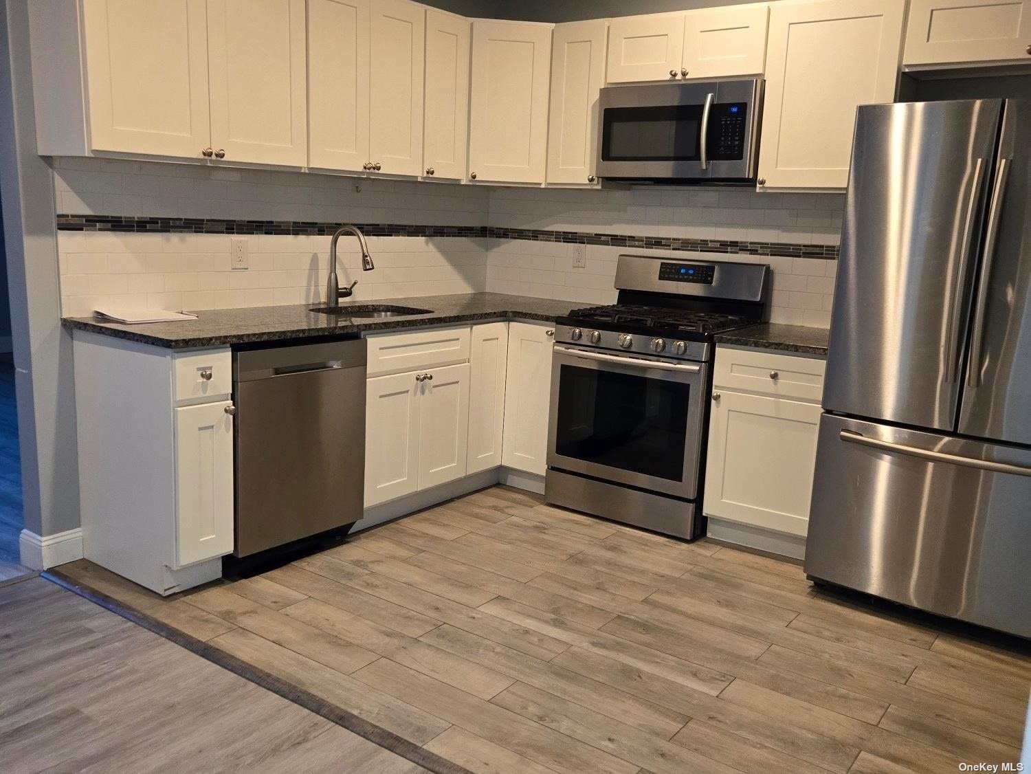
[[[1031,62],[1031,0],[910,0],[908,66]]]

